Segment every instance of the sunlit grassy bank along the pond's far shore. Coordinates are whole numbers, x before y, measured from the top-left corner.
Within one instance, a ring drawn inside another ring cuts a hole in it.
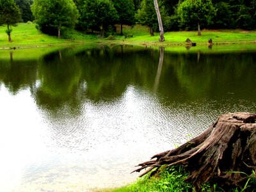
[[[42,46],[68,46],[74,44],[128,44],[128,45],[148,45],[148,46],[173,46],[186,45],[186,38],[190,38],[198,45],[207,45],[209,38],[214,44],[256,44],[256,31],[242,30],[214,30],[202,31],[202,36],[197,36],[196,31],[175,31],[164,34],[165,42],[159,43],[158,33],[155,36],[150,36],[148,28],[145,26],[136,25],[133,28],[124,27],[125,35],[132,37],[125,38],[120,36],[120,26],[116,27],[116,33],[111,40],[101,38],[97,34],[86,35],[79,31],[68,31],[67,39],[58,39],[55,36],[45,35],[40,33],[35,28],[35,24],[20,23],[17,27],[13,27],[12,43],[8,42],[8,36],[5,33],[6,26],[0,27],[0,47],[42,47]]]

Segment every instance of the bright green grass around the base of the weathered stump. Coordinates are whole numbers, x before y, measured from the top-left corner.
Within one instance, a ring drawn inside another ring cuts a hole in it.
[[[245,174],[243,172],[239,172]],[[182,168],[182,166],[172,166],[171,168],[162,168],[162,171],[157,173],[154,177],[147,175],[138,179],[137,182],[129,186],[116,189],[100,189],[97,192],[148,192],[148,191],[161,191],[161,192],[195,192],[191,182],[185,182],[184,180],[188,177],[189,173]],[[244,186],[240,188],[229,188],[228,192],[255,192],[256,191],[256,177],[255,172],[252,175],[246,175],[248,180]],[[218,184],[203,184],[201,188],[202,192],[217,192],[223,191],[224,189],[218,187]]]

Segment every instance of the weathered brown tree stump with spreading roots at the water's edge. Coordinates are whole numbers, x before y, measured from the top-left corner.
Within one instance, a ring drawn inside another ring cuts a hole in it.
[[[148,168],[140,176],[164,164],[183,165],[196,191],[204,182],[218,186],[237,186],[256,170],[256,114],[227,113],[221,115],[205,132],[179,148],[168,150],[141,163],[137,170]],[[155,159],[156,158],[156,159]],[[241,173],[244,172],[244,173]]]

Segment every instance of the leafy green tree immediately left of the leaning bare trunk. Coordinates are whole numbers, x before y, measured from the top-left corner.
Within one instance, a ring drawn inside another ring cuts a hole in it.
[[[135,15],[140,24],[148,26],[150,35],[154,35],[154,31],[158,27],[157,15],[154,6],[154,1],[143,0],[140,5],[140,10]]]

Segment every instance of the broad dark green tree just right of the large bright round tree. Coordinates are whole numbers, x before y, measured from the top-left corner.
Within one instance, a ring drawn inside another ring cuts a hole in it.
[[[118,20],[118,13],[109,0],[85,0],[81,11],[81,25],[84,29],[99,29],[102,27],[102,34],[105,35],[109,26]]]

